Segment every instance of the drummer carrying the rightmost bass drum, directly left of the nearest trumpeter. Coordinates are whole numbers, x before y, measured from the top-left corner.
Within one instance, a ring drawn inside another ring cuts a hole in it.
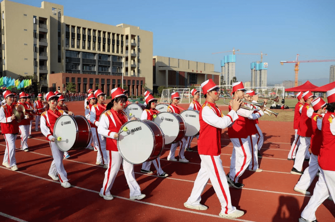
[[[179,103],[179,100],[180,100],[179,93],[178,92],[172,93],[171,94],[171,104],[167,107],[167,112],[180,114],[180,110],[179,110],[180,107],[177,106],[177,104]],[[177,159],[175,158],[175,153],[176,153],[178,144],[180,144],[179,162],[189,162],[184,156],[184,153],[185,153],[184,144],[186,144],[185,136],[182,138],[181,141],[171,144],[171,149],[170,149],[169,155],[167,156],[167,160],[177,161]]]

